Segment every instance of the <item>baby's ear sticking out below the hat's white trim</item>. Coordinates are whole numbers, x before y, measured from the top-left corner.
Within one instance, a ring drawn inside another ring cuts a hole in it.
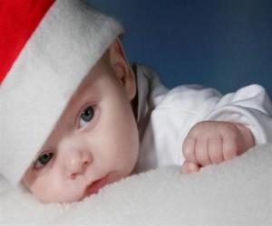
[[[128,99],[134,99],[136,95],[136,78],[119,38],[112,42],[109,48],[109,60],[112,70],[127,93]]]

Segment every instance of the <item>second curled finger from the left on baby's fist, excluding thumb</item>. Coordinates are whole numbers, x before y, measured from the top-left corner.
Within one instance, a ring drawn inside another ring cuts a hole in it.
[[[199,165],[205,166],[210,165],[211,161],[209,159],[209,142],[206,138],[198,138],[196,143],[196,158]]]

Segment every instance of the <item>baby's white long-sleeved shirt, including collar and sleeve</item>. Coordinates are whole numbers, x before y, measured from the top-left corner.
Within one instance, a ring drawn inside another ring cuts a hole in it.
[[[272,142],[272,105],[257,84],[222,95],[216,89],[183,85],[166,89],[156,72],[135,64],[140,154],[135,172],[181,165],[182,143],[189,129],[203,120],[232,121],[248,127],[256,144]]]

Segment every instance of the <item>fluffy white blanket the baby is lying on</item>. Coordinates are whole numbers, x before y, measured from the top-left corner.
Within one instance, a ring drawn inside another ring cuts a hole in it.
[[[271,223],[272,145],[183,175],[132,175],[72,204],[42,204],[0,184],[0,225],[256,225]]]

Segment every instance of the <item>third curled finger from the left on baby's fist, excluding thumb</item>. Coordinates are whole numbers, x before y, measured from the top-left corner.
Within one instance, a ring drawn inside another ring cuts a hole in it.
[[[219,164],[224,161],[222,146],[222,137],[219,136],[209,139],[209,159],[212,164]]]

